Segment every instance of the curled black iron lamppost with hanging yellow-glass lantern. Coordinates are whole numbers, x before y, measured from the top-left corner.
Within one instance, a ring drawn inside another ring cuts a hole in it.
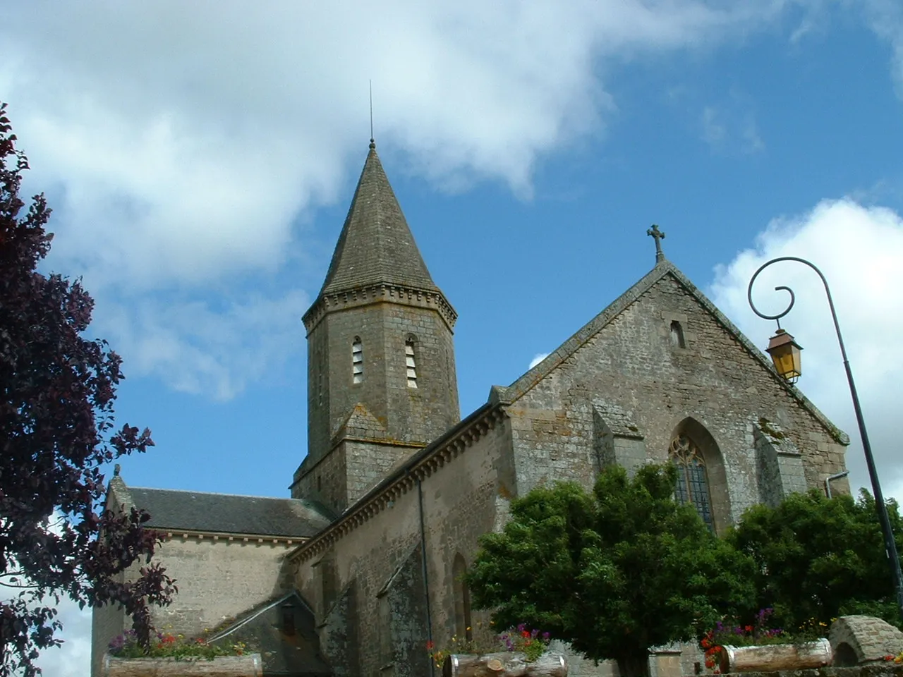
[[[777,321],[777,332],[775,336],[773,336],[769,341],[767,351],[775,363],[777,373],[780,376],[787,378],[787,380],[791,383],[796,383],[796,379],[799,378],[801,374],[799,359],[799,351],[801,350],[801,348],[796,345],[796,341],[794,341],[792,336],[790,336],[784,329],[781,329],[780,323],[780,319],[787,315],[788,312],[790,312],[790,309],[793,308],[794,301],[796,301],[793,290],[790,289],[790,287],[786,286],[775,287],[776,292],[785,291],[790,294],[790,304],[783,312],[779,312],[777,313],[777,315],[766,315],[763,312],[759,312],[759,309],[756,308],[755,303],[752,302],[752,285],[756,282],[756,278],[759,277],[759,273],[768,268],[769,265],[777,264],[780,261],[796,261],[797,263],[808,265],[815,271],[815,273],[818,274],[820,278],[822,278],[822,283],[824,284],[824,292],[828,296],[828,306],[831,308],[831,317],[834,320],[834,329],[837,332],[837,342],[841,347],[843,368],[846,369],[847,382],[850,384],[852,406],[856,412],[856,422],[859,424],[859,434],[862,439],[862,450],[865,452],[865,462],[869,467],[871,491],[875,496],[875,506],[878,508],[878,519],[881,524],[881,532],[884,535],[884,549],[888,555],[891,576],[894,581],[894,589],[897,592],[897,606],[900,617],[903,618],[903,574],[901,574],[900,572],[900,561],[897,552],[897,543],[894,540],[894,533],[890,527],[888,508],[887,505],[884,504],[884,495],[881,493],[881,485],[878,480],[878,470],[875,468],[875,459],[871,455],[869,433],[865,430],[865,422],[862,420],[862,410],[859,405],[859,395],[856,394],[856,384],[852,379],[850,360],[847,358],[846,348],[843,347],[841,327],[837,322],[837,312],[834,311],[834,301],[831,298],[831,290],[828,288],[828,281],[824,279],[824,274],[822,274],[822,271],[816,268],[815,264],[806,261],[805,258],[798,258],[797,256],[778,256],[777,258],[773,258],[767,263],[760,265],[759,270],[757,270],[749,280],[749,288],[746,292],[746,297],[749,301],[749,307],[753,312],[759,315],[760,318]]]

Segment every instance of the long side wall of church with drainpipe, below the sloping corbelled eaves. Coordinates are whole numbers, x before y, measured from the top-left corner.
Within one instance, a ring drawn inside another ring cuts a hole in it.
[[[514,481],[507,453],[510,444],[507,422],[497,422],[421,484],[427,586],[437,645],[447,644],[455,633],[455,555],[461,553],[470,564],[479,535],[498,528],[507,515]],[[405,623],[404,618],[392,617],[392,609],[401,604],[398,591],[410,596],[408,607],[413,605],[425,612],[424,590],[410,575],[411,558],[419,561],[421,557],[420,543],[420,496],[414,486],[365,524],[345,533],[325,552],[299,562],[295,585],[314,607],[321,635],[354,635],[356,645],[362,647],[358,671],[350,673],[362,677],[381,674],[386,659],[392,660],[392,637],[410,634],[397,630]],[[354,608],[350,608],[349,598],[354,600]],[[332,613],[337,604],[349,607],[344,619]],[[479,617],[474,613],[475,621]],[[337,624],[346,627],[337,629]],[[421,634],[416,643],[424,647],[425,626]],[[329,645],[340,643],[330,641]],[[329,658],[333,663],[347,664],[346,656]],[[399,661],[396,669],[402,668]]]

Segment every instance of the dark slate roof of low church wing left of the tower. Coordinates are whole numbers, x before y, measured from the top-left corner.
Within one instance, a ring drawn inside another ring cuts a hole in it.
[[[146,525],[154,529],[309,537],[334,517],[325,506],[296,498],[144,487],[127,491],[135,507],[151,514]]]

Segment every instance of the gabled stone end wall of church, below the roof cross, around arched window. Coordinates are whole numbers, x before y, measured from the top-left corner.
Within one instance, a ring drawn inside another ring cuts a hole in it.
[[[675,321],[683,348],[672,337]],[[726,520],[766,497],[754,440],[763,421],[776,422],[799,450],[805,486],[844,468],[845,447],[670,275],[508,408],[518,495],[553,479],[591,487],[599,446],[593,416],[611,407],[638,428],[652,461],[666,459],[682,422],[702,425],[726,468]]]

